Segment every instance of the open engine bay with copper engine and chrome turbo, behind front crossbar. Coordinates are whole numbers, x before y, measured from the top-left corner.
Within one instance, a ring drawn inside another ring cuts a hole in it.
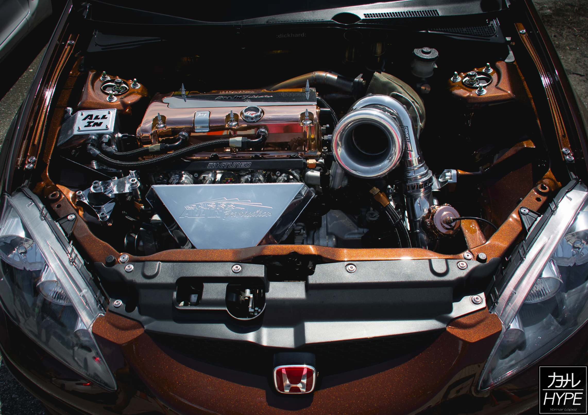
[[[393,65],[406,82],[315,71],[204,93],[186,80],[149,95],[149,79],[123,68],[82,68],[49,175],[99,238],[131,255],[270,244],[455,254],[489,238],[548,170],[533,156],[543,171],[525,171],[528,187],[508,201],[479,185],[536,147],[524,79],[501,46],[502,60],[443,80],[444,48],[415,47]],[[370,58],[383,67],[382,56]]]

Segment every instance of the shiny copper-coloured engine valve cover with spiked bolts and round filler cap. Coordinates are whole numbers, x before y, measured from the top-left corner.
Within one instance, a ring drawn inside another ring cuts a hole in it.
[[[289,157],[297,154],[314,158],[322,149],[319,107],[316,100],[295,101],[294,99],[300,99],[300,95],[304,97],[303,89],[299,90],[300,92],[275,91],[267,98],[263,98],[265,93],[249,94],[258,97],[256,101],[248,101],[234,94],[186,95],[186,102],[179,95],[164,96],[149,104],[141,125],[136,130],[136,136],[142,143],[158,144],[161,140],[171,139],[180,131],[185,131],[190,135],[189,143],[198,144],[236,136],[255,139],[259,129],[265,129],[268,134],[263,146],[256,146],[251,150],[237,149],[231,153],[220,150],[213,152],[221,154],[221,157],[229,154],[235,157],[263,153],[264,156]],[[200,99],[201,96],[208,99]],[[211,99],[212,96],[222,99]],[[294,98],[288,102],[291,96]],[[308,125],[303,125],[306,110],[309,122]],[[158,114],[165,116],[163,128],[157,127]],[[209,151],[208,154],[201,153],[188,158],[208,157],[210,153]]]

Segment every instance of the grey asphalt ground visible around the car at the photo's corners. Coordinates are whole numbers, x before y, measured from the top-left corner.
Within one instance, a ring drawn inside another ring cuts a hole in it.
[[[588,106],[588,0],[534,0],[534,3],[547,31],[552,36],[553,44],[562,59],[577,96]],[[21,49],[28,52],[22,55],[19,50],[16,50],[8,59],[16,62],[16,65],[11,65],[12,72],[18,70],[23,62],[25,62],[24,65],[26,62],[31,64],[24,73],[21,72],[22,75],[16,82],[10,76],[4,77],[4,83],[0,82],[0,93],[8,91],[0,100],[0,144],[4,141],[12,119],[28,93],[45,52],[43,48],[38,55],[31,56],[31,50],[37,53],[42,48],[42,45],[39,45],[39,37],[48,39],[52,33],[50,22],[35,30],[34,36],[21,43]],[[22,45],[26,45],[26,48]],[[5,65],[8,65],[8,60],[2,62],[3,69],[6,68]],[[6,80],[9,82],[8,85]],[[527,411],[524,415],[533,413],[536,413],[536,409]],[[0,358],[0,415],[32,414],[50,415],[41,402],[16,382]]]

